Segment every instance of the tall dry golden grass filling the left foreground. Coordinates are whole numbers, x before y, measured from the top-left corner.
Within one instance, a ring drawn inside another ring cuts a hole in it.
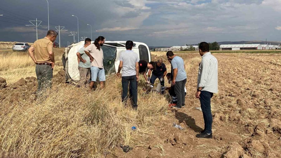
[[[153,125],[163,120],[168,102],[139,88],[139,107],[133,111],[121,102],[121,79],[113,76],[106,82],[105,89],[91,93],[55,84],[38,101],[2,101],[6,112],[0,115],[0,155],[104,157],[120,143],[143,146],[157,134]]]

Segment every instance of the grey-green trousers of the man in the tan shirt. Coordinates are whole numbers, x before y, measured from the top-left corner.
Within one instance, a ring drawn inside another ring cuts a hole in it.
[[[35,72],[37,76],[37,94],[46,91],[52,87],[53,69],[49,65],[36,65]]]

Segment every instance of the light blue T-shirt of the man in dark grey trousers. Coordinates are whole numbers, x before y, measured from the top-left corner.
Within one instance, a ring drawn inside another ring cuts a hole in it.
[[[185,72],[185,64],[181,57],[175,56],[171,61],[173,69],[178,68],[178,74],[176,76],[176,81],[182,81],[187,78]]]

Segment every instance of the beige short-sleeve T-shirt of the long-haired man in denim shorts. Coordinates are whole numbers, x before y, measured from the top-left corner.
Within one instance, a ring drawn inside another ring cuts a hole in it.
[[[85,48],[85,51],[89,52],[94,60],[91,62],[91,66],[103,68],[103,51],[100,48],[97,49],[94,43],[90,44],[88,47]]]

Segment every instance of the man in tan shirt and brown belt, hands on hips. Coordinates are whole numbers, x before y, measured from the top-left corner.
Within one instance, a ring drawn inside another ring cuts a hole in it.
[[[53,68],[55,56],[53,53],[53,42],[57,38],[57,32],[49,30],[47,36],[34,42],[28,49],[29,56],[36,64],[35,72],[37,76],[37,98],[52,87]]]

